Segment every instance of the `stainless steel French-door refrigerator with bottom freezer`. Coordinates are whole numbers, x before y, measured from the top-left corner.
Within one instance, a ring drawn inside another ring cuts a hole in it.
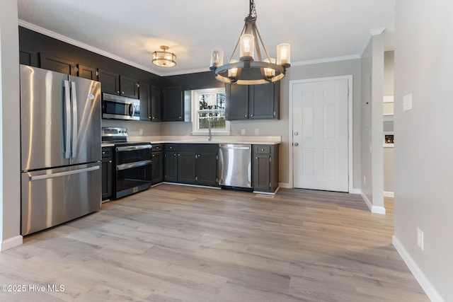
[[[21,234],[101,207],[101,83],[21,65]]]

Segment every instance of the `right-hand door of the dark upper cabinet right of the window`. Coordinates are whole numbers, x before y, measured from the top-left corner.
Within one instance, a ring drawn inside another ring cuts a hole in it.
[[[249,86],[248,112],[251,119],[277,118],[280,82]]]

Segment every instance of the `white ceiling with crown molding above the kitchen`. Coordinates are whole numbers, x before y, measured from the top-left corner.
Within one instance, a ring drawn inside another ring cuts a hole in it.
[[[287,42],[292,65],[360,57],[377,28],[393,50],[395,0],[255,3],[270,56]],[[161,76],[208,71],[214,47],[229,59],[247,15],[247,0],[18,0],[20,25]],[[175,67],[151,64],[160,45],[176,54]]]

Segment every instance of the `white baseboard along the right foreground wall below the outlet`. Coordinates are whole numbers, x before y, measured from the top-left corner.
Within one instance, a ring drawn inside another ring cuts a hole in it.
[[[413,277],[415,277],[420,286],[422,286],[422,289],[423,291],[425,291],[428,298],[430,298],[430,300],[433,302],[444,302],[442,296],[440,296],[434,286],[432,286],[430,280],[425,276],[425,274],[423,274],[420,267],[418,267],[417,263],[415,263],[411,255],[409,255],[408,251],[404,248],[398,238],[396,238],[396,236],[392,236],[391,242],[396,248],[398,254],[401,256],[401,258],[403,258],[403,261],[411,270]]]

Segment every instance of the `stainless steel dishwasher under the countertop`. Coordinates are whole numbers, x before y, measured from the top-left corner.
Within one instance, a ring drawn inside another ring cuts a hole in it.
[[[219,185],[252,187],[252,148],[249,144],[219,145]]]

